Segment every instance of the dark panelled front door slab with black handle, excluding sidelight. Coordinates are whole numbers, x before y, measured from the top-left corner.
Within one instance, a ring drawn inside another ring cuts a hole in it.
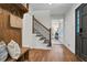
[[[87,61],[87,4],[81,7],[81,56]]]

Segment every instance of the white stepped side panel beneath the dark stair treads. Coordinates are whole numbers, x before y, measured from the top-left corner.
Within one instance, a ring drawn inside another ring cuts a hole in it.
[[[32,35],[32,48],[50,50],[47,43],[44,43],[44,40],[40,40],[41,37],[42,36],[36,36],[36,34]]]

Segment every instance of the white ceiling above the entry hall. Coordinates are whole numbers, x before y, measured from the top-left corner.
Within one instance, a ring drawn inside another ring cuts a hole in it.
[[[75,3],[30,3],[33,11],[50,10],[51,15],[63,15],[73,7],[73,4]]]

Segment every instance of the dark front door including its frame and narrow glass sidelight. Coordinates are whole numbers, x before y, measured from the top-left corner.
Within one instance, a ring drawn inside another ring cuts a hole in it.
[[[76,54],[87,61],[87,4],[76,10]]]

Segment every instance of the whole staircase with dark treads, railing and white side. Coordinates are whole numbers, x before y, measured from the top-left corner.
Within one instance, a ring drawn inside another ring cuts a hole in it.
[[[42,23],[32,17],[33,20],[33,48],[43,48],[43,50],[51,50],[52,42],[51,42],[51,29],[45,28]]]

